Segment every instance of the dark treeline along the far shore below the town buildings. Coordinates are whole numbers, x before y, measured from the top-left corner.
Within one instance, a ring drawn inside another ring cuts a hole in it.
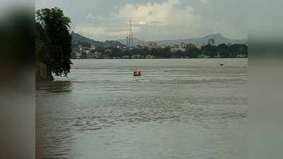
[[[200,48],[195,45],[187,45],[183,50],[173,51],[171,47],[158,47],[149,49],[148,47],[136,47],[133,49],[119,49],[119,48],[103,48],[97,47],[94,52],[102,52],[109,58],[114,57],[132,57],[139,55],[146,57],[148,55],[154,58],[236,58],[248,57],[248,46],[241,44],[226,45],[221,44],[218,46],[204,45]]]

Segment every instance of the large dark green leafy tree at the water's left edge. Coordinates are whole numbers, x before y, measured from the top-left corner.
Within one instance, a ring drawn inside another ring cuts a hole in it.
[[[49,54],[45,57],[46,66],[57,76],[67,76],[71,68],[71,20],[64,16],[60,8],[42,8],[36,12],[37,23],[42,25],[50,39]]]

